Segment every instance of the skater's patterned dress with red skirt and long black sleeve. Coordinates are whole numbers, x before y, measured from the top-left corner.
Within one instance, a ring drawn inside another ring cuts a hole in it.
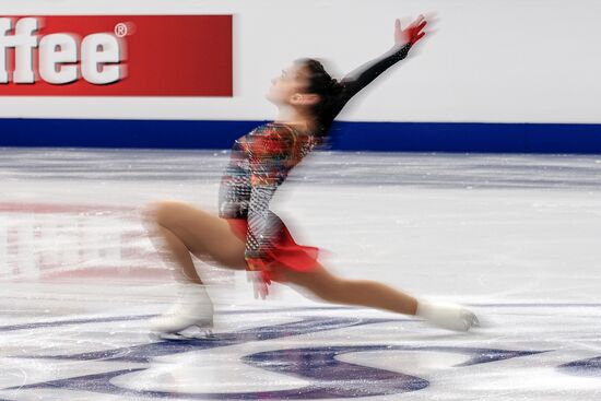
[[[388,68],[404,59],[411,46],[397,46],[340,81],[340,91],[318,117],[319,135],[292,126],[270,122],[234,142],[220,188],[220,216],[245,241],[245,258],[263,268],[263,280],[278,280],[280,269],[310,271],[318,248],[298,245],[285,224],[270,211],[278,187],[290,172],[316,149],[335,116],[362,89]]]

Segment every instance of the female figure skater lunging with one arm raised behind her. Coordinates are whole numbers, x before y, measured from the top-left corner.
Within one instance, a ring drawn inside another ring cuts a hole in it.
[[[425,26],[423,15],[406,28],[397,20],[392,49],[340,82],[314,59],[298,59],[273,79],[267,98],[278,107],[278,118],[234,142],[221,180],[219,216],[173,201],[148,209],[158,249],[177,266],[182,283],[179,300],[152,320],[152,330],[177,334],[192,327],[212,328],[213,304],[191,255],[208,263],[254,272],[255,293],[262,298],[271,281],[276,281],[308,290],[329,303],[417,316],[450,330],[467,331],[478,325],[475,315],[459,305],[416,299],[378,282],[332,274],[319,263],[318,248],[297,245],[285,224],[269,210],[270,200],[291,169],[326,143],[344,105],[404,59],[426,34]]]

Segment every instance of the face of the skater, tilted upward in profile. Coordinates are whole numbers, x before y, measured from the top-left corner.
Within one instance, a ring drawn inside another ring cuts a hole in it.
[[[271,80],[267,98],[275,105],[310,107],[318,101],[318,96],[307,93],[308,85],[309,78],[305,67],[293,63],[283,69],[279,76]]]

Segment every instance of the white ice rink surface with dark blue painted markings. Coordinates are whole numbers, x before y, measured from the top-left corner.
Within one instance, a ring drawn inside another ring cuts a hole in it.
[[[297,241],[483,327],[256,300],[199,262],[215,335],[166,341],[148,320],[174,283],[140,211],[215,212],[227,152],[0,153],[0,400],[601,398],[601,156],[314,154],[273,201]]]

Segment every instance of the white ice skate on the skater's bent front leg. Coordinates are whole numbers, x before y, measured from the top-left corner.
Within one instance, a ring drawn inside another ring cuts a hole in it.
[[[166,312],[150,320],[154,335],[163,339],[197,338],[182,333],[198,328],[205,338],[212,337],[213,303],[203,285],[189,284],[180,290],[178,302]]]

